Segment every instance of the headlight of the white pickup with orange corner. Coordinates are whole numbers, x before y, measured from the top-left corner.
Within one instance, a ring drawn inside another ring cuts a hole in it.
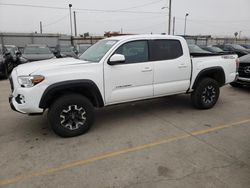
[[[44,80],[44,76],[34,75],[34,76],[19,76],[18,83],[21,87],[33,87]]]

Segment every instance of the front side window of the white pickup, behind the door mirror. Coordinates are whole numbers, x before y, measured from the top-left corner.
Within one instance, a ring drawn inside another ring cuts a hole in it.
[[[120,46],[115,54],[125,56],[125,63],[140,63],[148,61],[148,42],[133,41]]]

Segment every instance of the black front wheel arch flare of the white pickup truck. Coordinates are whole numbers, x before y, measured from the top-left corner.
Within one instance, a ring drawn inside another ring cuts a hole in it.
[[[39,108],[46,109],[60,96],[78,93],[90,100],[95,107],[103,107],[104,101],[97,85],[91,80],[69,80],[50,85],[44,91]]]

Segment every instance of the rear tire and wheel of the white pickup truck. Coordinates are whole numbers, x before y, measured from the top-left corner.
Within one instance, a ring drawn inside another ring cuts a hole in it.
[[[220,87],[216,80],[204,78],[195,87],[191,94],[191,101],[198,109],[212,108],[220,95]]]

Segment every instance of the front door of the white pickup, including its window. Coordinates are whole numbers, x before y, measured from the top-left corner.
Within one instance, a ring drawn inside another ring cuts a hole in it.
[[[148,42],[132,41],[122,44],[114,54],[125,56],[118,65],[104,65],[105,100],[115,104],[153,96],[153,67],[149,62]]]

